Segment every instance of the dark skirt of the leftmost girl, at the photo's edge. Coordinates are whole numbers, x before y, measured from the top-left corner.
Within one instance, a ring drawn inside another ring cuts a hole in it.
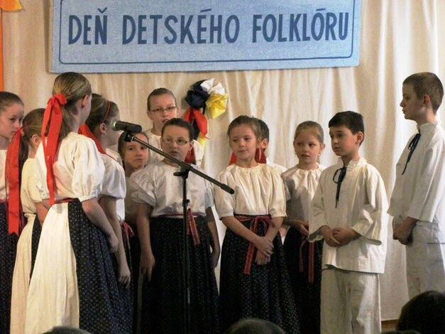
[[[0,203],[0,333],[9,333],[12,275],[16,263],[18,235],[9,234],[6,203]]]

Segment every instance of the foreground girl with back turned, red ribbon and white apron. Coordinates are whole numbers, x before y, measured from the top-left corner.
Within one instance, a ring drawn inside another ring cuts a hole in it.
[[[104,163],[92,139],[77,134],[92,90],[75,72],[57,76],[42,126],[35,173],[49,210],[26,304],[26,333],[70,325],[92,333],[126,333],[109,252],[116,237],[98,203]]]

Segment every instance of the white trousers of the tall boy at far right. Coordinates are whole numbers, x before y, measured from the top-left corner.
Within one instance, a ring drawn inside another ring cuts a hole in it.
[[[407,283],[410,299],[429,290],[445,291],[445,244],[407,245]]]

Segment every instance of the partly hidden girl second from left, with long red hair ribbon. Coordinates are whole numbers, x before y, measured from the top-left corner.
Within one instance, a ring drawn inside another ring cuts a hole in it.
[[[37,184],[35,183],[34,162],[35,153],[40,144],[45,109],[34,109],[23,118],[23,128],[16,132],[10,149],[15,152],[8,160],[9,166],[18,166],[16,175],[20,175],[19,182],[9,182],[10,200],[18,202],[23,209],[26,225],[21,230],[17,243],[16,264],[14,266],[11,296],[11,333],[24,333],[26,296],[29,280],[37,253],[40,239],[41,225],[45,220],[48,209],[42,203]],[[10,173],[12,176],[13,173]],[[15,185],[16,190],[12,187]],[[9,205],[11,209],[11,205]],[[18,210],[17,212],[20,212]],[[9,212],[11,214],[11,212]],[[20,222],[21,217],[9,218],[9,225],[14,220]]]

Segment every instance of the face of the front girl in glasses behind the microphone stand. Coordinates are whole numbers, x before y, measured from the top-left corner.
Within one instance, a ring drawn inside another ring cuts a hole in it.
[[[163,137],[160,139],[160,148],[180,161],[192,149],[189,131],[182,126],[168,125],[164,128]]]

